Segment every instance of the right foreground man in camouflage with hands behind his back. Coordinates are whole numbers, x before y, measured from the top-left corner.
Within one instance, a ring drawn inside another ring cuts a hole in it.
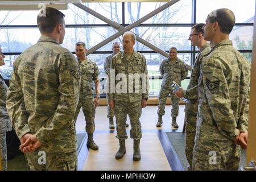
[[[228,9],[208,15],[204,39],[212,42],[200,67],[199,110],[193,170],[237,170],[241,137],[246,138],[250,64],[233,46],[229,34],[235,16]]]

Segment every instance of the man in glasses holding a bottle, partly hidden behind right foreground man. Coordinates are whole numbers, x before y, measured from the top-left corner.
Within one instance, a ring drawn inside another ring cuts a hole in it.
[[[178,97],[187,98],[187,103],[185,105],[185,126],[186,126],[186,147],[185,152],[187,160],[189,163],[188,170],[192,169],[192,159],[193,159],[193,147],[195,144],[196,135],[196,115],[198,109],[198,78],[200,76],[200,65],[203,61],[204,55],[210,51],[210,46],[206,40],[204,40],[203,23],[196,24],[191,28],[191,34],[188,40],[191,40],[192,46],[197,46],[199,52],[196,55],[196,60],[193,65],[191,72],[191,79],[187,90],[182,88],[174,92]]]

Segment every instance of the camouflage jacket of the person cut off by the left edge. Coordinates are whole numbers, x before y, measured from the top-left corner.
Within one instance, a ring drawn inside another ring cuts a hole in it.
[[[0,75],[0,133],[11,131],[11,122],[6,109],[7,85]]]

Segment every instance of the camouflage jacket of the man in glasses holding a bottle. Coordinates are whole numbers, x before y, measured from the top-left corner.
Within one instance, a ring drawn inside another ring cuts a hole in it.
[[[200,65],[202,64],[203,57],[207,55],[209,51],[210,46],[207,43],[197,53],[196,61],[191,72],[191,79],[189,81],[188,88],[187,90],[183,90],[183,97],[188,98],[189,101],[198,100],[198,79],[200,76]]]

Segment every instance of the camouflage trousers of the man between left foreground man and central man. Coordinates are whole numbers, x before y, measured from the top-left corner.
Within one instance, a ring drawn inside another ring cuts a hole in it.
[[[76,114],[74,121],[76,122],[77,116],[79,115],[80,109],[82,107],[82,112],[84,113],[85,117],[85,131],[88,134],[93,134],[95,130],[95,123],[94,123],[94,118],[95,118],[95,106],[93,102],[93,98],[86,98],[82,99],[82,97],[79,98],[79,104],[76,107]]]

